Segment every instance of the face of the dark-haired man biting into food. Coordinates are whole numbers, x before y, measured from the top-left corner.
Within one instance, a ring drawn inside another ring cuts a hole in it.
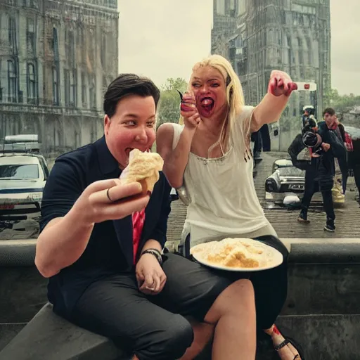
[[[155,101],[129,95],[117,103],[115,114],[104,117],[106,144],[113,157],[124,169],[129,162],[129,153],[134,148],[146,151],[155,141]]]

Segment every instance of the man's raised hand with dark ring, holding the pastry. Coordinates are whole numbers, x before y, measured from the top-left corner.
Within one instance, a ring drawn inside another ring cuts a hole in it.
[[[120,179],[95,181],[74,204],[79,221],[95,224],[127,217],[148,205],[150,197],[141,193],[141,184],[122,184]]]

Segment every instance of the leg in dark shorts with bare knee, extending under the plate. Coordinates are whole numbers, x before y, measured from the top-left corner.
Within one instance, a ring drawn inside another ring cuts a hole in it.
[[[214,325],[212,359],[255,359],[255,299],[248,279],[233,282],[173,254],[166,255],[163,269],[167,283],[154,301],[169,311]],[[193,359],[194,350],[188,349],[183,359]]]

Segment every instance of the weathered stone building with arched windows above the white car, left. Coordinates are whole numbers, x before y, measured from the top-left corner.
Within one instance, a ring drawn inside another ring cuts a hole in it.
[[[101,136],[118,18],[117,0],[0,2],[0,139],[38,134],[46,153]]]

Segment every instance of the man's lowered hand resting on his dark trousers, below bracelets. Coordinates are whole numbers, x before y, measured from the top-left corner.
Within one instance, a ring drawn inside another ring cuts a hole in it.
[[[146,295],[157,295],[166,283],[166,275],[154,255],[141,255],[136,264],[136,280],[139,290]]]

